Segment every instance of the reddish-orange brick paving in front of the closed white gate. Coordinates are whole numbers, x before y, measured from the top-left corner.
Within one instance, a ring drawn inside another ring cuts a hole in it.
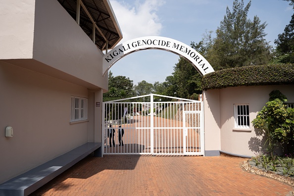
[[[31,196],[286,196],[293,188],[243,171],[244,158],[87,157]]]

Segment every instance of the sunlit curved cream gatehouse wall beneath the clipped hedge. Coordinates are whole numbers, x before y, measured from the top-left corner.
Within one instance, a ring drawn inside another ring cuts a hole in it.
[[[263,147],[262,137],[258,136],[257,130],[254,129],[251,121],[256,118],[257,112],[269,101],[269,93],[273,90],[279,90],[288,98],[289,102],[294,102],[294,85],[230,87],[207,91],[219,92],[221,151],[251,157],[259,151],[256,144],[260,144]],[[234,104],[242,103],[249,104],[250,130],[234,129]],[[215,103],[208,104],[210,106]],[[218,113],[218,110],[216,109],[214,113]],[[210,119],[205,120],[211,122]],[[205,137],[206,141],[207,139]]]

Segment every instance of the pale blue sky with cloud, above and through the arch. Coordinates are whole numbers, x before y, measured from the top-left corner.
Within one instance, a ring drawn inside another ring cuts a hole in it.
[[[241,0],[240,0],[241,1]],[[246,5],[249,0],[244,0]],[[187,45],[198,43],[207,31],[215,31],[233,0],[110,0],[120,25],[123,40],[162,36]],[[257,15],[266,22],[265,39],[274,45],[278,34],[289,24],[293,8],[284,0],[251,0],[248,18]],[[154,84],[172,75],[179,56],[162,50],[143,50],[117,61],[110,71],[113,76],[126,76],[134,85],[142,80]],[[191,65],[192,66],[192,65]]]

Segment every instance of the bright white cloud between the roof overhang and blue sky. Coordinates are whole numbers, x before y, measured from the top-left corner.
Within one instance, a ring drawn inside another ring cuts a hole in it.
[[[137,0],[132,5],[124,0],[110,0],[110,3],[123,34],[120,43],[139,37],[160,35],[162,24],[157,11],[165,3],[163,0]]]

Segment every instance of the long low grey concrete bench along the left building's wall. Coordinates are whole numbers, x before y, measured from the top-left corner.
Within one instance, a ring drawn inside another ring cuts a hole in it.
[[[88,142],[0,184],[0,196],[28,196],[93,151],[101,156],[101,143]]]

